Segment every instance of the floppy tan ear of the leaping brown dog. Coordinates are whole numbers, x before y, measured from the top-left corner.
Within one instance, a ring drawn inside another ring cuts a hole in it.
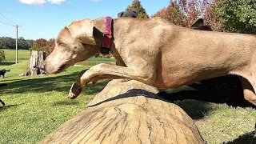
[[[81,19],[72,22],[66,26],[70,30],[73,38],[80,40],[82,43],[96,45],[94,39],[94,23],[90,19]]]

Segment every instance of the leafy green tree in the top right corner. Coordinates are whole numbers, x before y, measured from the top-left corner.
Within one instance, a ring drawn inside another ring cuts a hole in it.
[[[218,1],[214,12],[221,19],[224,30],[256,34],[255,0]]]

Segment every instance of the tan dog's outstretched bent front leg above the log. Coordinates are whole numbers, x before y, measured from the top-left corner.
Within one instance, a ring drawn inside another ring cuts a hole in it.
[[[91,67],[89,70],[83,70],[78,74],[77,82],[74,82],[71,86],[68,98],[77,98],[81,93],[82,88],[86,86],[88,82],[97,82],[102,79],[129,78],[152,86],[154,84],[155,77],[154,68],[144,67],[144,69],[134,70],[130,67],[98,64]]]

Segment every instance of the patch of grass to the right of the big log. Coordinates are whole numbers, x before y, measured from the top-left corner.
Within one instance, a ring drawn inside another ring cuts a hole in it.
[[[239,143],[241,140],[241,144],[256,143],[256,134],[249,134],[256,122],[256,110],[252,108],[235,109],[226,104],[196,100],[178,101],[176,104],[194,119],[208,143]]]

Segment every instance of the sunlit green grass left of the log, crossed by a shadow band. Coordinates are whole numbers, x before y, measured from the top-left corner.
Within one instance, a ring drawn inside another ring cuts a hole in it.
[[[6,106],[0,107],[0,143],[35,143],[46,134],[74,117],[86,103],[97,94],[106,82],[97,86],[86,86],[80,97],[75,100],[66,98],[72,82],[80,70],[87,67],[70,67],[62,74],[29,76],[19,78],[26,70],[27,61],[12,66],[1,83],[0,98]]]

